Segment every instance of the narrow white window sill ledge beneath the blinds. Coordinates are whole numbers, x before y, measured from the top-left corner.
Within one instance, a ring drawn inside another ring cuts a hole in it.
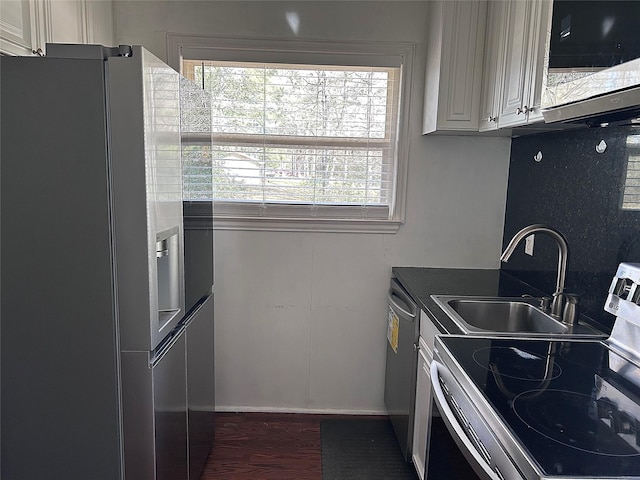
[[[185,228],[208,230],[252,230],[269,232],[324,233],[396,233],[402,225],[398,220],[218,217],[187,215]]]

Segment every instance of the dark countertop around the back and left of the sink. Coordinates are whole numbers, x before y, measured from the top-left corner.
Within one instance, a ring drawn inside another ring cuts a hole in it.
[[[400,282],[421,310],[429,314],[442,333],[462,333],[431,295],[519,297],[545,293],[503,270],[393,267]],[[581,320],[582,321],[582,320]]]

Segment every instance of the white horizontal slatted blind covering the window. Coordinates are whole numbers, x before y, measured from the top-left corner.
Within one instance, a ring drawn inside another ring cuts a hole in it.
[[[183,122],[188,200],[213,185],[216,215],[391,216],[399,67],[184,60],[183,73],[211,94],[212,144],[197,113]]]

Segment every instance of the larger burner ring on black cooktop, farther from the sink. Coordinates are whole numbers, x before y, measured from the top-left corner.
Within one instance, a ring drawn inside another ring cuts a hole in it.
[[[615,405],[596,402],[591,395],[541,389],[519,394],[513,409],[520,420],[540,435],[570,448],[598,455],[640,455],[612,428]],[[629,426],[630,428],[630,426]]]

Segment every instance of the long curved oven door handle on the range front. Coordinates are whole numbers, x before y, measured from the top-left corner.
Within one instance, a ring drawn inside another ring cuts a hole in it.
[[[449,432],[454,437],[456,444],[464,454],[467,461],[469,461],[479,476],[487,480],[501,480],[498,474],[491,469],[489,464],[487,464],[480,452],[478,452],[476,446],[467,436],[464,428],[460,426],[457,417],[447,402],[442,386],[440,385],[438,370],[445,371],[446,367],[436,360],[433,360],[431,362],[431,387],[433,390],[434,400],[438,405],[438,410],[440,410],[442,419],[447,424]]]

